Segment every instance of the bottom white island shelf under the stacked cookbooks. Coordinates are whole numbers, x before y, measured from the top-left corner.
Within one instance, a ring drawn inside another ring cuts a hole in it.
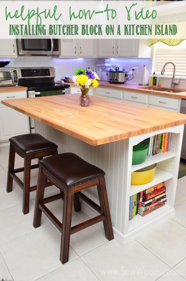
[[[168,212],[170,209],[171,207],[168,204],[166,204],[160,207],[159,209],[154,210],[153,212],[147,214],[144,217],[142,217],[140,214],[137,214],[132,220],[129,221],[129,232],[141,226],[145,227],[145,224],[148,224],[154,218]]]

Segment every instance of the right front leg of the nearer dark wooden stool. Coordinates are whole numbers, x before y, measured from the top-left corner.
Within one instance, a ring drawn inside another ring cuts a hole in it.
[[[112,222],[110,218],[109,202],[106,192],[105,177],[100,178],[100,184],[97,185],[98,196],[100,200],[101,212],[105,214],[105,220],[103,220],[103,226],[105,229],[105,236],[108,240],[114,239]]]

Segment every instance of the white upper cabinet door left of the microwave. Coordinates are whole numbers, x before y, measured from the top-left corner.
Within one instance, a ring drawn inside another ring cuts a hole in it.
[[[17,57],[17,48],[15,39],[0,40],[0,57]]]

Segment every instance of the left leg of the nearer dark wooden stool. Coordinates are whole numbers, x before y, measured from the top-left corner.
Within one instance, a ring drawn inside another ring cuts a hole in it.
[[[42,210],[39,209],[39,203],[43,202],[45,192],[45,180],[46,177],[42,173],[42,167],[39,166],[39,175],[37,181],[37,192],[36,192],[36,205],[34,210],[34,221],[33,226],[39,227],[41,225]]]

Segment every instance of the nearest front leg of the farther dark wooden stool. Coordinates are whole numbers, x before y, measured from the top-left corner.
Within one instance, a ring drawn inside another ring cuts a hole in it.
[[[28,155],[25,156],[24,161],[24,181],[23,181],[23,214],[29,212],[29,200],[30,200],[30,166],[31,166],[31,157]]]

